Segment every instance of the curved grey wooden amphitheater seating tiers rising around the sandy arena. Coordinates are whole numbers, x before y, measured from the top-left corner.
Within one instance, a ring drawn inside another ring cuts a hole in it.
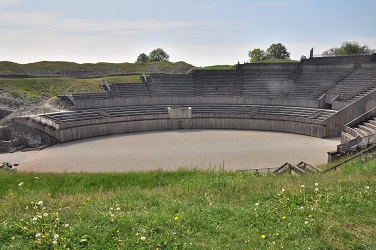
[[[150,131],[257,130],[341,136],[334,155],[376,134],[376,54],[151,73],[140,83],[60,96],[75,111],[17,117],[59,142]]]

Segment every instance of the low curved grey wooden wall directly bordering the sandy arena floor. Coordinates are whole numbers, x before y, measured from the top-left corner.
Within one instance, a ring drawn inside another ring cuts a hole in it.
[[[56,129],[54,126],[38,121],[38,118],[31,119],[28,117],[15,118],[17,123],[36,128],[59,142],[68,142],[96,136],[133,133],[143,131],[158,130],[176,130],[176,129],[243,129],[243,130],[262,130],[262,131],[279,131],[294,134],[323,137],[326,129],[319,123],[308,123],[308,119],[295,118],[288,120],[286,117],[277,119],[274,117],[192,117],[188,119],[170,119],[169,115],[162,117],[150,116],[142,120],[130,121],[110,121],[111,118],[98,119],[98,124],[87,124],[77,122],[74,127],[61,127]],[[134,117],[133,119],[136,119]],[[307,121],[305,121],[307,120]],[[72,124],[73,125],[73,124]]]

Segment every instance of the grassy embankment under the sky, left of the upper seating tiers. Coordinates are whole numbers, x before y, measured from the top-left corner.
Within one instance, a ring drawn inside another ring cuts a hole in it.
[[[23,78],[0,77],[0,89],[25,102],[38,103],[62,93],[101,91],[100,84],[105,81],[107,83],[140,82],[140,75],[143,73],[182,73],[192,67],[185,62],[145,64],[77,64],[72,62],[17,64],[0,62],[0,75],[32,76]]]

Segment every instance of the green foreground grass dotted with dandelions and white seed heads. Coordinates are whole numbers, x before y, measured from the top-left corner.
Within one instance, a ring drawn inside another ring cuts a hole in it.
[[[0,249],[374,249],[376,162],[325,175],[0,172]]]

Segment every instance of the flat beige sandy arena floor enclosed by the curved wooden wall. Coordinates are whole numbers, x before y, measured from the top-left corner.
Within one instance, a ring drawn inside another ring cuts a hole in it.
[[[122,134],[63,143],[41,151],[0,154],[32,172],[123,172],[218,167],[276,168],[326,163],[339,138],[249,130],[180,130]]]

